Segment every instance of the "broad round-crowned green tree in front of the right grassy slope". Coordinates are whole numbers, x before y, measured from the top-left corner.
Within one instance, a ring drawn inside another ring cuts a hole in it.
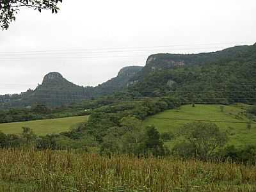
[[[184,125],[182,135],[186,140],[175,145],[173,151],[183,157],[198,157],[203,160],[212,157],[228,140],[227,134],[221,132],[216,124],[203,122]]]

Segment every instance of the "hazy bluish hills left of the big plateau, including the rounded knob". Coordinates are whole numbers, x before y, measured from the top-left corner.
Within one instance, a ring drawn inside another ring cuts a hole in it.
[[[60,106],[92,97],[111,95],[115,91],[127,88],[129,79],[141,68],[143,67],[124,67],[118,72],[118,76],[97,87],[77,86],[61,76],[60,73],[50,72],[35,90],[14,95],[0,95],[0,108],[24,108],[35,104]]]

